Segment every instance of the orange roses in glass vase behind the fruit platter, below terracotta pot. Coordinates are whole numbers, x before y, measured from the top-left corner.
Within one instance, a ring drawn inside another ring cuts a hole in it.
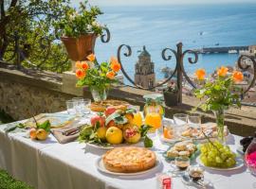
[[[112,57],[109,62],[104,61],[99,64],[94,54],[90,54],[86,59],[76,62],[77,86],[87,86],[94,101],[105,100],[111,85],[118,82],[115,77],[120,70],[119,61]]]

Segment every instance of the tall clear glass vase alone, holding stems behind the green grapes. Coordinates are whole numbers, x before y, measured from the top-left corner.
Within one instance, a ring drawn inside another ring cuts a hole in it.
[[[216,124],[217,124],[218,140],[224,144],[226,142],[225,133],[224,133],[224,120],[225,120],[224,110],[220,109],[218,111],[214,111],[214,115],[215,115]]]

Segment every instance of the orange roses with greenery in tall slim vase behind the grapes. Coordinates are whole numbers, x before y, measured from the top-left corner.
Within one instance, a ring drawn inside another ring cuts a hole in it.
[[[206,72],[204,69],[198,69],[195,76],[200,83],[203,83],[200,89],[196,89],[196,97],[203,99],[198,105],[204,112],[214,112],[218,129],[218,138],[225,142],[224,136],[224,111],[230,106],[241,107],[241,89],[236,84],[244,79],[239,71],[228,73],[228,68],[222,66],[217,70],[216,75],[211,79],[205,79]],[[196,107],[197,108],[197,107]]]

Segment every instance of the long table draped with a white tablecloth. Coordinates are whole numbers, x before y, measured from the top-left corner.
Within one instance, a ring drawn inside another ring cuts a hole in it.
[[[162,165],[146,175],[122,178],[102,174],[97,170],[95,163],[104,150],[96,150],[78,142],[61,145],[52,135],[45,142],[34,142],[25,138],[24,133],[6,134],[3,131],[5,127],[7,125],[0,126],[0,168],[38,189],[155,189],[155,174],[170,169],[170,164],[160,154],[168,146],[161,144],[157,137],[154,139],[153,150]],[[235,135],[229,138],[233,150],[240,139]],[[205,177],[213,182],[216,189],[256,188],[256,178],[247,172],[246,166],[228,172],[206,170]],[[173,181],[174,188],[192,188],[184,185],[179,178]]]

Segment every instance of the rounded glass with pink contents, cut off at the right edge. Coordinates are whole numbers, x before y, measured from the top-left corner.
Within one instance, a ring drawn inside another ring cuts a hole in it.
[[[256,176],[256,138],[254,138],[250,145],[247,147],[245,161],[250,173]]]

